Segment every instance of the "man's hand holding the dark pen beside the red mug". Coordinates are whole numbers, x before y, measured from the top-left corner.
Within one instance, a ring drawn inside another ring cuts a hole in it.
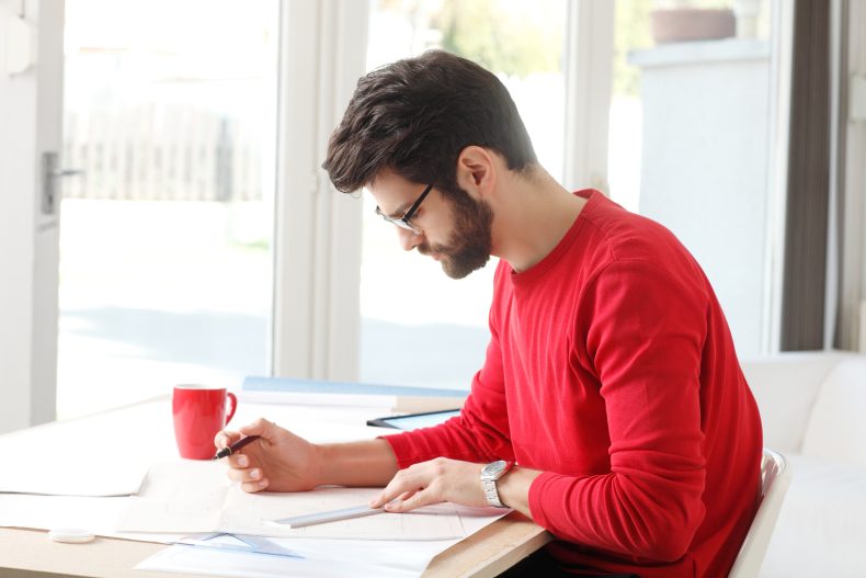
[[[247,435],[261,438],[227,457],[228,477],[240,481],[244,491],[305,491],[321,484],[319,446],[265,419],[238,431],[220,431],[214,444],[223,449]]]

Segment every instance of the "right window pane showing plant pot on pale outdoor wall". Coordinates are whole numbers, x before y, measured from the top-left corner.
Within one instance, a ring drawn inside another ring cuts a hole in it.
[[[695,256],[740,354],[768,351],[772,338],[782,31],[771,4],[616,3],[609,194],[673,230]]]

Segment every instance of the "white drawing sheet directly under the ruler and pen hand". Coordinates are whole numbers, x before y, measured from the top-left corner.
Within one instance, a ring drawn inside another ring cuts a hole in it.
[[[118,524],[123,532],[232,532],[260,536],[357,540],[447,540],[465,535],[453,505],[381,513],[307,528],[274,520],[368,502],[377,488],[248,494],[229,483],[218,462],[176,460],[151,466],[139,496]]]

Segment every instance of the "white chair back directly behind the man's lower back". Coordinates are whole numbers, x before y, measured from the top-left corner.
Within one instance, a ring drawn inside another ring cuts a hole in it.
[[[790,466],[785,457],[764,447],[761,458],[761,505],[733,563],[729,578],[754,578],[764,562],[773,528],[776,525],[785,492],[790,485]]]

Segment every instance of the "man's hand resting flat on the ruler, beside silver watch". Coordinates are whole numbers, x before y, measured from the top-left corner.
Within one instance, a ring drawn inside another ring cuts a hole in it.
[[[482,464],[436,457],[401,469],[371,508],[408,512],[422,506],[449,501],[464,506],[487,506],[481,488]],[[391,501],[394,500],[394,501]]]

